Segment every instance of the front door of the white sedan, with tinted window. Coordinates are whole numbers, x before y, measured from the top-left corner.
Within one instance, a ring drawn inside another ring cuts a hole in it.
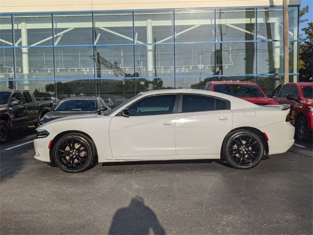
[[[131,104],[129,117],[113,117],[110,123],[112,156],[175,155],[177,105],[177,94],[151,95]]]

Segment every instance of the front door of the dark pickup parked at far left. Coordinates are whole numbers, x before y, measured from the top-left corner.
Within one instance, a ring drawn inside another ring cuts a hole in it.
[[[21,104],[12,105],[12,102],[16,100],[20,100]],[[14,116],[12,120],[13,128],[27,123],[26,107],[25,107],[25,102],[22,98],[22,94],[20,92],[13,93],[9,104],[10,104],[10,109],[12,110],[12,113]]]

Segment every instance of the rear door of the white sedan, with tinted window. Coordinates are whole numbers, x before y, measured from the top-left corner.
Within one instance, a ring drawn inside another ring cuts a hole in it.
[[[214,96],[183,94],[175,121],[176,154],[220,154],[232,128],[230,102]]]

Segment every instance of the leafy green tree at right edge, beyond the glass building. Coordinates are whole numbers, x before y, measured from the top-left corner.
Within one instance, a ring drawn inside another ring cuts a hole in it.
[[[310,81],[313,77],[313,23],[302,29],[304,37],[299,45],[299,81]]]

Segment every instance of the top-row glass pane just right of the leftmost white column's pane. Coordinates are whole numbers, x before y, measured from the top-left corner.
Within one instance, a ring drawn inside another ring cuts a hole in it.
[[[54,14],[54,45],[92,44],[91,13]]]

